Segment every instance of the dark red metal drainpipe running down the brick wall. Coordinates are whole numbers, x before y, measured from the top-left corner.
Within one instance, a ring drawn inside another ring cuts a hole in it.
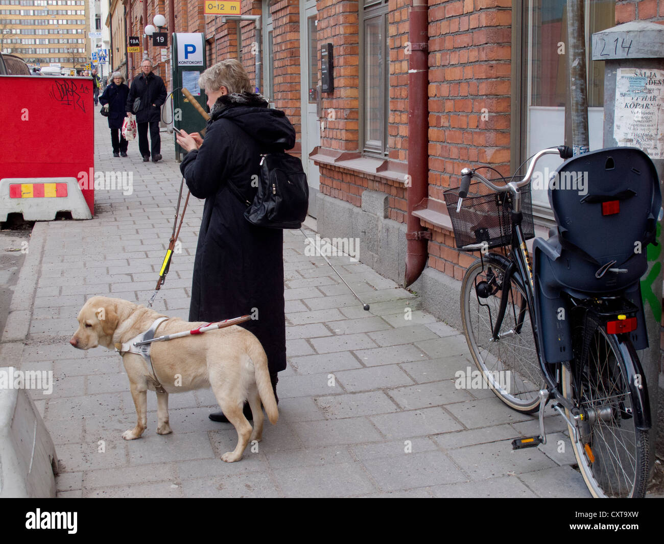
[[[408,22],[408,221],[406,223],[406,278],[408,287],[422,274],[428,257],[431,232],[420,226],[413,209],[428,196],[428,40],[429,21],[426,0],[412,0]]]

